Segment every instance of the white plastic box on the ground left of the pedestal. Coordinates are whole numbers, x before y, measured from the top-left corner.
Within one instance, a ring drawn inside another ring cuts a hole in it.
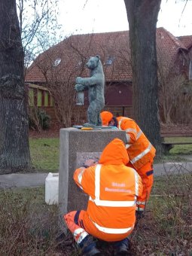
[[[49,172],[45,178],[45,203],[58,204],[59,197],[59,173]]]

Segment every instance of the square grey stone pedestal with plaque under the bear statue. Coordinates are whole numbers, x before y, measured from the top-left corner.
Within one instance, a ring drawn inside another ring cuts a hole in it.
[[[59,209],[60,214],[87,209],[88,197],[75,184],[73,174],[89,158],[98,158],[112,139],[125,142],[124,131],[105,128],[102,130],[60,130],[59,158]]]

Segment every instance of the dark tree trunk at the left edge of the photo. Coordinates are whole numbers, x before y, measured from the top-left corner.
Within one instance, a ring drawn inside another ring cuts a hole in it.
[[[0,2],[0,174],[31,167],[16,0]]]

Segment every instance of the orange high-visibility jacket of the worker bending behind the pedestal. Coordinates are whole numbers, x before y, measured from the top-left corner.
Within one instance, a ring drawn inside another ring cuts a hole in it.
[[[137,123],[128,117],[117,117],[117,122],[118,128],[126,131],[126,151],[133,166],[139,169],[148,162],[153,163],[156,150]]]

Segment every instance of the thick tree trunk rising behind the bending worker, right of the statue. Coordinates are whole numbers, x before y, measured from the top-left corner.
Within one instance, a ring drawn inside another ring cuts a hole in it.
[[[133,116],[157,149],[163,151],[158,113],[156,25],[161,0],[124,0],[130,26]]]

